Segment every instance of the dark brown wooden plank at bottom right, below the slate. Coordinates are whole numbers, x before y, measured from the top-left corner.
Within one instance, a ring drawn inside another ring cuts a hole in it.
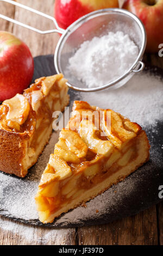
[[[157,245],[155,206],[116,222],[79,228],[78,237],[79,245]]]

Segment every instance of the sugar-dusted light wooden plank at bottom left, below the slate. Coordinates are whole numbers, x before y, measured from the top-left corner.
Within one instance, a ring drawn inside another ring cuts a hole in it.
[[[76,229],[33,227],[0,217],[0,245],[75,245]]]

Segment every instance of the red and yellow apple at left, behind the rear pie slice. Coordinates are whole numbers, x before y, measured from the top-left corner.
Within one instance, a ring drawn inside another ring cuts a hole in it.
[[[22,93],[29,86],[34,72],[34,60],[24,42],[0,31],[0,101]]]

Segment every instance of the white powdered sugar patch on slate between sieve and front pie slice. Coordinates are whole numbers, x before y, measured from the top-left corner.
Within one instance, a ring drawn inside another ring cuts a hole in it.
[[[149,72],[134,75],[119,89],[83,94],[91,105],[113,109],[143,127],[163,120],[162,99],[162,80]]]

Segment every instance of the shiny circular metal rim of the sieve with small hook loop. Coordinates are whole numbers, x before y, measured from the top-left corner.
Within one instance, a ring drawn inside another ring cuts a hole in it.
[[[84,22],[86,22],[91,16],[95,16],[98,14],[112,14],[112,13],[116,13],[118,14],[124,14],[129,16],[130,19],[133,19],[136,21],[137,25],[139,25],[139,28],[141,30],[141,35],[142,35],[142,44],[141,44],[141,48],[139,51],[139,54],[135,60],[135,62],[130,66],[130,68],[128,69],[128,71],[126,73],[124,73],[122,76],[118,77],[116,80],[104,84],[101,87],[93,87],[93,88],[81,88],[81,87],[76,87],[73,84],[66,82],[67,86],[73,90],[77,90],[79,92],[97,92],[99,90],[103,90],[112,86],[116,86],[116,84],[120,81],[122,81],[124,78],[126,78],[128,75],[130,75],[132,72],[140,72],[142,71],[142,68],[140,68],[140,70],[136,70],[135,71],[135,67],[139,64],[142,63],[142,57],[143,54],[145,52],[146,49],[146,44],[147,44],[147,35],[146,35],[146,30],[145,30],[145,26],[143,25],[142,21],[139,19],[139,17],[137,17],[135,14],[131,13],[128,10],[125,9],[119,9],[119,8],[106,8],[106,9],[101,9],[101,10],[97,10],[97,11],[92,11],[89,14],[86,14],[82,17],[80,17],[77,21],[73,22],[66,30],[65,32],[61,35],[61,38],[59,39],[59,42],[57,44],[57,47],[55,48],[55,53],[54,53],[54,65],[55,65],[55,69],[57,71],[58,74],[61,73],[61,70],[59,68],[59,63],[58,63],[58,53],[60,51],[60,46],[62,43],[62,40],[64,40],[65,36],[67,35],[68,32],[71,32],[72,28],[76,27],[79,23],[81,23],[81,26]],[[144,64],[143,64],[143,68],[144,68]]]

